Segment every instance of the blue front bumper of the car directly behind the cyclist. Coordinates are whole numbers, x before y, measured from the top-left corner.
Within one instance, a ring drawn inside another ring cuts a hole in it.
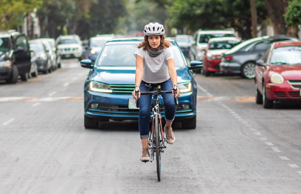
[[[100,92],[85,92],[85,115],[95,120],[138,120],[139,110],[129,109],[129,99],[132,95],[119,95]],[[177,107],[175,119],[190,119],[194,117],[195,107],[193,107],[193,95],[192,92],[182,93],[178,98],[179,106]],[[92,104],[94,107],[92,108]],[[183,108],[185,105],[189,105],[189,108]],[[165,117],[164,104],[161,108],[161,115]],[[150,116],[151,117],[151,116]]]

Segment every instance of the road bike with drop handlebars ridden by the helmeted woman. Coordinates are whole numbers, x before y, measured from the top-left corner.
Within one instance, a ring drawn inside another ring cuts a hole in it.
[[[151,89],[151,85],[146,85],[146,86],[147,89]],[[144,163],[153,162],[154,155],[156,153],[158,181],[161,180],[161,153],[163,153],[164,148],[166,148],[166,146],[164,145],[166,139],[164,138],[163,135],[162,117],[160,114],[160,108],[162,104],[159,103],[158,96],[162,94],[172,93],[172,90],[174,91],[175,94],[177,94],[177,87],[174,87],[168,91],[161,91],[161,86],[155,86],[153,91],[140,91],[140,95],[154,95],[154,99],[153,99],[154,103],[151,105],[151,110],[153,111],[151,115],[151,120],[153,121],[152,121],[151,135],[148,139],[148,149],[151,150],[150,159],[142,162]],[[138,96],[139,90],[135,89],[135,93],[136,96]],[[135,101],[135,105],[137,108],[139,108],[139,99]],[[175,98],[175,105],[178,106],[178,98]]]

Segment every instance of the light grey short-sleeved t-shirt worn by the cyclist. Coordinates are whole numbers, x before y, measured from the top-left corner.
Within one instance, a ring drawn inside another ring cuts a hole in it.
[[[134,53],[135,57],[136,55],[139,55],[144,59],[143,81],[146,83],[161,83],[170,78],[168,74],[167,60],[174,59],[171,47],[163,49],[162,53],[156,57],[149,56],[147,50],[143,50],[143,48],[137,48]]]

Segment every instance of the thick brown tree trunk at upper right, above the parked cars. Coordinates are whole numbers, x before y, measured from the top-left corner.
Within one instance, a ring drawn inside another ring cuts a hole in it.
[[[268,11],[268,16],[271,19],[275,35],[287,34],[283,14],[287,9],[288,0],[264,0],[265,8]]]

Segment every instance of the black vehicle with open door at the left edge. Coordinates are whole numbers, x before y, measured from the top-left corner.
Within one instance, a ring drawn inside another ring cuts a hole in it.
[[[15,30],[0,31],[0,80],[27,81],[31,66],[27,36]]]

